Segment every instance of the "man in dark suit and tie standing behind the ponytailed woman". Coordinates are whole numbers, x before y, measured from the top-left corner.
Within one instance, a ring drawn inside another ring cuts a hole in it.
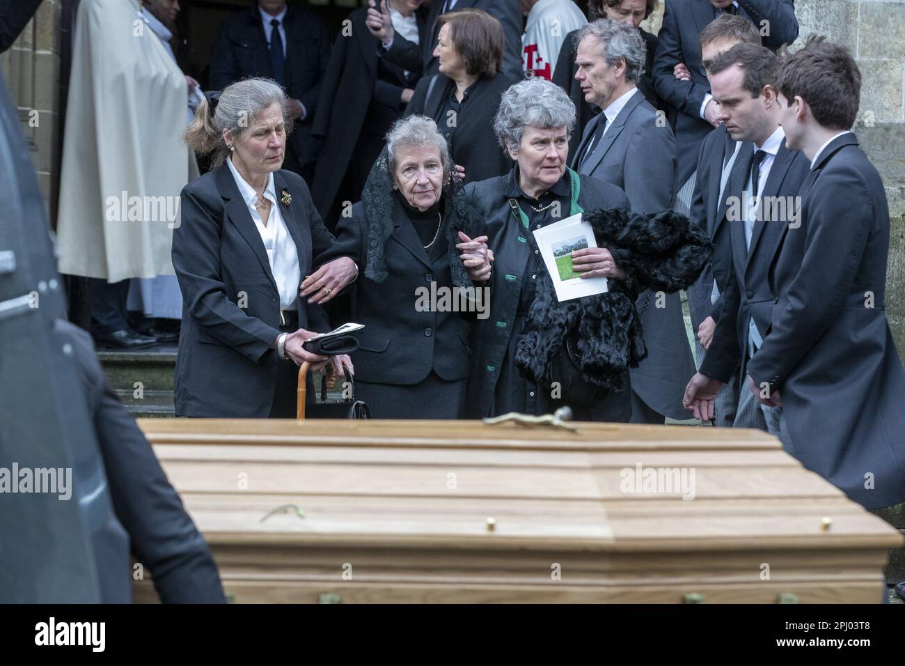
[[[294,127],[288,137],[284,169],[306,182],[314,176],[317,145],[311,121],[330,56],[327,29],[317,16],[286,0],[258,0],[226,19],[217,32],[211,56],[210,87],[222,91],[230,83],[265,77],[285,89]]]

